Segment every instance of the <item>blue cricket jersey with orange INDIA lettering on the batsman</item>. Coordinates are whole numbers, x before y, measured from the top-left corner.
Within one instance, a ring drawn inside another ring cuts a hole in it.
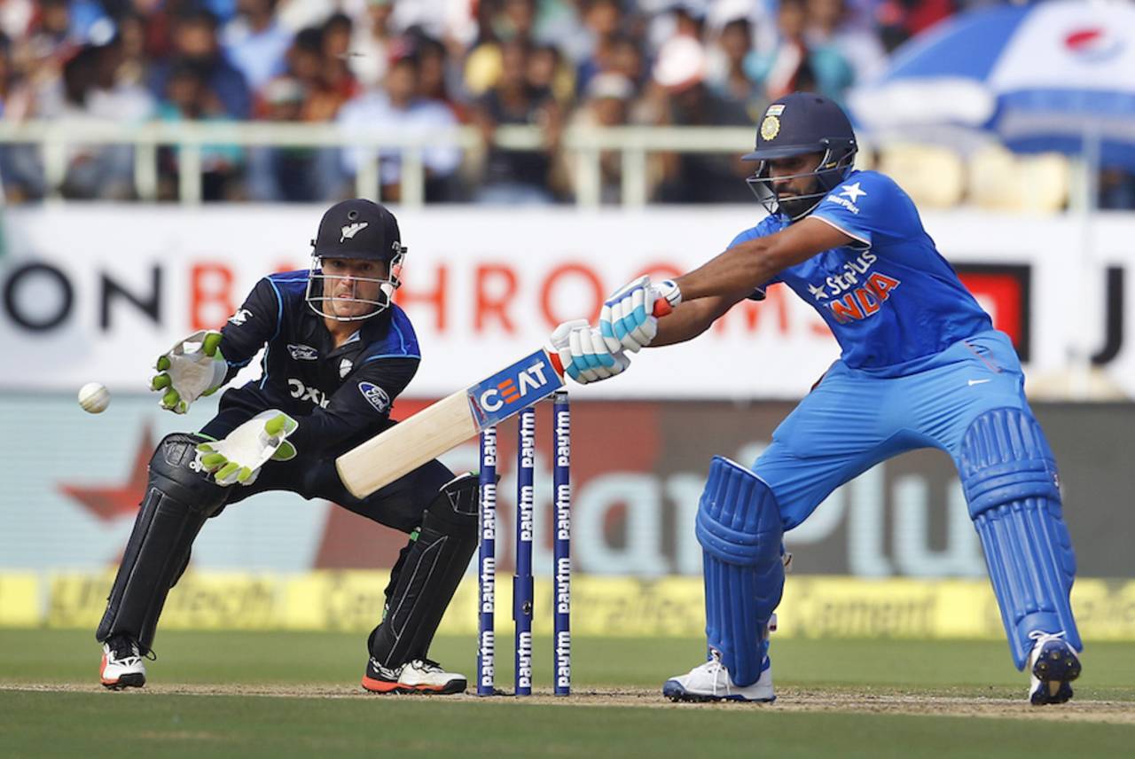
[[[914,201],[890,177],[852,171],[810,217],[857,242],[817,253],[764,287],[783,282],[810,303],[852,369],[902,364],[992,329],[989,314],[923,229]],[[770,216],[730,247],[788,225],[785,217]]]

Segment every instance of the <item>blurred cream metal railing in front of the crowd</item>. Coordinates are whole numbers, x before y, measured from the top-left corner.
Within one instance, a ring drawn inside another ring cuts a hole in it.
[[[599,167],[604,151],[619,151],[622,163],[622,204],[645,205],[648,199],[647,155],[653,152],[728,153],[748,149],[750,127],[570,127],[561,147],[574,162],[575,203],[596,206],[600,202],[603,177]],[[538,151],[544,134],[537,127],[504,126],[494,143],[504,149]],[[402,155],[401,203],[420,206],[426,194],[427,149],[454,146],[472,151],[481,145],[480,133],[470,126],[420,132],[347,127],[328,124],[281,124],[275,121],[232,123],[150,123],[121,125],[67,120],[2,121],[0,144],[35,144],[42,151],[43,172],[49,199],[60,197],[67,175],[68,149],[78,145],[132,145],[134,147],[134,187],[143,201],[158,199],[158,149],[178,150],[178,197],[184,204],[201,202],[202,150],[208,145],[242,147],[361,147],[375,150],[372,160],[363,161],[355,174],[360,196],[378,192],[377,150],[397,150]]]

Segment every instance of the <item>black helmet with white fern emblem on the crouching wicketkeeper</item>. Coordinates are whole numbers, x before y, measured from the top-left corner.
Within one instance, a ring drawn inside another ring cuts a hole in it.
[[[358,321],[369,319],[390,307],[394,290],[402,284],[400,275],[406,246],[402,244],[398,220],[385,206],[364,197],[336,203],[320,219],[319,231],[316,233],[316,239],[311,241],[311,247],[306,301],[312,311],[339,321]],[[386,278],[353,277],[354,288],[351,296],[340,295],[334,298],[363,303],[371,306],[370,310],[359,315],[340,317],[325,307],[333,298],[325,294],[323,286],[326,280],[333,277],[323,275],[323,259],[381,261],[387,264]],[[362,282],[376,282],[377,293],[371,297],[360,296],[359,284]]]

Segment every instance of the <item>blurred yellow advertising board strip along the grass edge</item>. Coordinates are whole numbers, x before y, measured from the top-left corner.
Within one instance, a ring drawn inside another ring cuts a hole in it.
[[[190,572],[170,592],[163,630],[327,630],[363,632],[382,616],[387,573],[304,574]],[[0,574],[0,626],[99,624],[114,575]],[[511,626],[508,577],[497,583],[497,626]],[[549,633],[552,583],[536,582],[533,629]],[[1078,580],[1073,591],[1085,640],[1135,641],[1135,581]],[[1003,633],[982,580],[790,577],[777,609],[779,635],[802,638],[997,639]],[[705,624],[697,577],[639,580],[578,576],[572,630],[579,635],[697,636]],[[463,581],[442,634],[477,630],[477,584]]]

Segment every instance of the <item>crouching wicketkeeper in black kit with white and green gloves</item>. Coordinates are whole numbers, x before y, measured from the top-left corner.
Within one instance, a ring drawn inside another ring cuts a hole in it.
[[[145,684],[166,594],[204,521],[264,490],[326,498],[410,533],[370,634],[369,691],[455,693],[463,675],[427,658],[430,641],[477,546],[477,478],[434,461],[365,499],[346,491],[335,457],[386,429],[390,404],[421,360],[414,330],[390,302],[406,248],[398,222],[367,200],[323,214],[310,271],[270,275],[219,332],[202,331],[158,359],[161,405],[185,413],[264,347],[262,377],[220,398],[200,433],[167,436],[107,613],[102,684]]]

